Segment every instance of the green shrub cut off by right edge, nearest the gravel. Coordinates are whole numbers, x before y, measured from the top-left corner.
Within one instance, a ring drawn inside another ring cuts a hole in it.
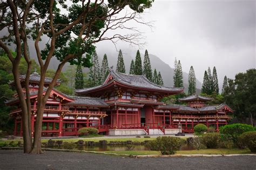
[[[256,152],[256,131],[242,133],[238,142],[240,145],[248,147],[251,152]]]

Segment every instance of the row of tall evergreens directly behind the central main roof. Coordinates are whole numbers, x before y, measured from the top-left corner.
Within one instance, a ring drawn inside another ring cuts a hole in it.
[[[119,50],[118,53],[116,71],[126,73],[122,50]],[[107,62],[107,55],[104,55],[102,65],[100,66],[98,55],[95,52],[92,56],[92,66],[90,67],[89,79],[86,84],[84,83],[82,67],[77,65],[75,89],[83,89],[84,87],[101,85],[104,83],[108,74],[109,63]],[[135,61],[133,59],[131,60],[129,74],[143,75],[154,84],[164,85],[160,71],[157,72],[157,70],[154,69],[154,72],[152,72],[150,57],[147,50],[145,50],[143,64],[142,58],[140,57],[140,52],[139,50],[137,51]]]

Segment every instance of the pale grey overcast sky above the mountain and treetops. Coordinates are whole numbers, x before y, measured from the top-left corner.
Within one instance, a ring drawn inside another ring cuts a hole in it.
[[[226,75],[255,68],[255,2],[256,1],[163,1],[156,0],[143,15],[154,21],[151,31],[141,25],[149,53],[173,67],[175,57],[183,71],[194,67],[203,82],[208,66],[217,68],[219,83]],[[118,49],[131,49],[118,43]],[[133,47],[137,50],[137,47]],[[114,51],[109,42],[97,44],[97,51]],[[135,55],[135,54],[134,54]]]

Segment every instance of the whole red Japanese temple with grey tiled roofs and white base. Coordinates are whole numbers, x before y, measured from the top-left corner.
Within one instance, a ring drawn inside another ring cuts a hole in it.
[[[20,76],[21,82],[24,79],[25,76]],[[37,72],[30,75],[32,133],[37,116],[39,80]],[[51,78],[45,78],[44,92],[51,81]],[[56,86],[59,84],[57,81]],[[102,85],[76,90],[76,96],[53,89],[44,108],[42,135],[78,135],[82,127],[96,127],[100,133],[110,135],[176,134],[178,124],[182,125],[183,132],[192,133],[199,123],[218,131],[231,118],[228,115],[233,112],[230,107],[226,104],[206,105],[211,100],[206,97],[193,95],[179,99],[186,105],[161,101],[183,91],[183,88],[153,84],[144,76],[110,69]],[[15,119],[14,135],[22,135],[22,110],[17,95],[6,101],[6,105],[17,107],[10,111],[10,116]]]

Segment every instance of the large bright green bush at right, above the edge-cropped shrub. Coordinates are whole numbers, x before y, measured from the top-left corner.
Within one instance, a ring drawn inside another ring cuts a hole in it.
[[[254,131],[254,127],[247,124],[232,124],[232,125],[225,125],[220,127],[220,134],[224,140],[231,139],[233,140],[234,144],[238,145],[238,137],[244,133]]]

